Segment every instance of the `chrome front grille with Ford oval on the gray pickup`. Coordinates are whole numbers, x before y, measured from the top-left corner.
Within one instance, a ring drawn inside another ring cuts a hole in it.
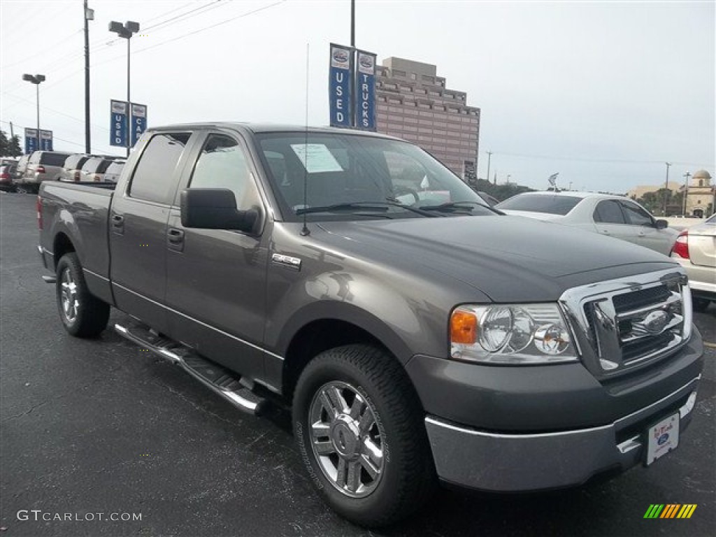
[[[561,304],[603,374],[671,354],[691,334],[691,293],[679,269],[570,289]]]

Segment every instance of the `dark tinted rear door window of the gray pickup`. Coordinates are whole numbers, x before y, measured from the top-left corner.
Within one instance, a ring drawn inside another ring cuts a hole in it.
[[[163,132],[149,140],[132,177],[130,198],[171,203],[175,169],[190,137],[188,132]]]

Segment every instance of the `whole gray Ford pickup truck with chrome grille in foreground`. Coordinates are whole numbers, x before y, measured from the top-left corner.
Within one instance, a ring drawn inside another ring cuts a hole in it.
[[[291,407],[342,516],[381,526],[438,480],[562,488],[677,448],[702,340],[684,270],[488,208],[381,135],[153,128],[116,185],[43,183],[67,332],[117,332],[236,407]]]

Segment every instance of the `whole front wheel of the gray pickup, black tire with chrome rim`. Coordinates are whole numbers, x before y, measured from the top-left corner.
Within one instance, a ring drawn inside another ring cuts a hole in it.
[[[334,407],[344,412],[331,417],[321,394],[336,392],[340,399],[331,401],[339,401]],[[306,469],[326,503],[360,526],[400,521],[432,492],[435,467],[423,417],[400,364],[367,345],[319,354],[301,373],[294,394],[294,435]]]

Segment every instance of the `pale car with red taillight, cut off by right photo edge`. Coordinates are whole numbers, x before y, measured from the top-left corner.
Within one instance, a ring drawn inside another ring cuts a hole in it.
[[[689,276],[694,309],[705,310],[710,302],[716,301],[716,215],[682,231],[672,257]]]

